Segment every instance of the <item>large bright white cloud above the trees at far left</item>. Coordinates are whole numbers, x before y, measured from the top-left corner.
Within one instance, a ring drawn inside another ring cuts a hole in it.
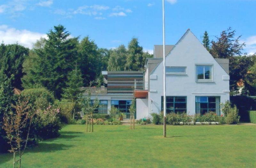
[[[41,37],[46,38],[46,34],[31,32],[28,30],[17,30],[16,28],[0,25],[0,41],[5,44],[14,44],[18,42],[24,47],[32,48],[33,43]]]

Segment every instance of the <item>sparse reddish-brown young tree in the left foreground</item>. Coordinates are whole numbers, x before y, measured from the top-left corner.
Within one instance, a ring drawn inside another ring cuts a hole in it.
[[[22,100],[20,97],[17,104],[12,106],[16,111],[5,113],[3,129],[11,146],[9,152],[13,153],[13,167],[16,163],[19,163],[19,167],[21,167],[21,157],[27,147],[30,127],[35,113],[30,111],[28,100]],[[29,126],[26,128],[27,124]],[[26,133],[25,136],[24,133]],[[19,160],[16,160],[16,153],[18,153]]]

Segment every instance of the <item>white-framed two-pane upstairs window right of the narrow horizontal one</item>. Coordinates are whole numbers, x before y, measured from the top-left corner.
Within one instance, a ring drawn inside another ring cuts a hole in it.
[[[213,81],[212,65],[196,65],[196,81]]]

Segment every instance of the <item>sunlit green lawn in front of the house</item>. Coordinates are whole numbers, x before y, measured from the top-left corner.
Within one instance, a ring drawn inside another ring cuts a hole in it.
[[[255,125],[94,126],[68,125],[56,139],[28,149],[22,167],[256,167]],[[0,154],[12,167],[12,154]]]

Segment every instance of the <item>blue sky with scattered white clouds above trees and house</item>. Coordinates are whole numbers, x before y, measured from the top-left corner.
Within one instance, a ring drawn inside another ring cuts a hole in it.
[[[185,31],[201,40],[228,27],[242,35],[244,52],[256,52],[256,0],[166,0],[166,44]],[[26,47],[53,26],[62,24],[72,36],[89,35],[99,47],[127,46],[132,37],[152,52],[162,44],[161,0],[0,0],[0,41]]]

